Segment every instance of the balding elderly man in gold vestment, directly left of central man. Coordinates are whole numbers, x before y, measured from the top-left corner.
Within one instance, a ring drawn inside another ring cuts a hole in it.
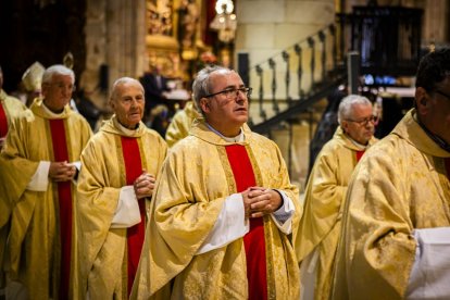
[[[167,150],[163,138],[141,122],[145,98],[138,80],[117,79],[110,104],[114,115],[82,154],[76,205],[79,299],[128,299]]]

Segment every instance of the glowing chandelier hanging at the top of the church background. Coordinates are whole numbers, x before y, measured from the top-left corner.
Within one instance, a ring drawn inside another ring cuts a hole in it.
[[[217,0],[215,3],[216,15],[210,24],[210,28],[218,33],[218,39],[223,42],[230,42],[235,39],[237,21],[233,13],[235,5],[233,0]]]

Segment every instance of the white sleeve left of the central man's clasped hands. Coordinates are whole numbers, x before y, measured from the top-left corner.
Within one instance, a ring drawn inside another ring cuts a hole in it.
[[[214,227],[196,255],[222,248],[243,237],[249,230],[250,224],[246,220],[242,195],[233,193],[225,199]]]

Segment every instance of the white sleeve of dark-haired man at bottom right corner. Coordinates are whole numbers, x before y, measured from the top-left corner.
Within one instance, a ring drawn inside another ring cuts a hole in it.
[[[415,261],[407,299],[450,299],[450,227],[414,229]]]

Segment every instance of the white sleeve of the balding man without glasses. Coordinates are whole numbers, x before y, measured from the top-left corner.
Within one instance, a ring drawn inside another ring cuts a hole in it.
[[[111,222],[111,228],[128,228],[140,223],[139,203],[135,188],[125,186],[118,195],[117,209]]]

